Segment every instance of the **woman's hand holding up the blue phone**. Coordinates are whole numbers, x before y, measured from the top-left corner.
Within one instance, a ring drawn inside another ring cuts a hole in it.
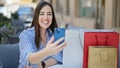
[[[49,56],[55,55],[65,48],[65,46],[66,46],[65,41],[63,43],[59,44],[63,40],[64,40],[64,38],[60,38],[59,40],[54,42],[54,36],[52,36],[52,38],[48,41],[46,48],[45,48],[45,50],[48,52]]]

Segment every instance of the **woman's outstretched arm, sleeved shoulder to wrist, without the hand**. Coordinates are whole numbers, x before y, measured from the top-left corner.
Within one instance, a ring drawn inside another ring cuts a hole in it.
[[[24,68],[26,66],[33,66],[36,68],[37,64],[49,55],[49,51],[47,49],[35,52],[34,40],[31,40],[33,37],[30,36],[31,34],[28,34],[27,32],[22,32],[19,36],[20,68]]]

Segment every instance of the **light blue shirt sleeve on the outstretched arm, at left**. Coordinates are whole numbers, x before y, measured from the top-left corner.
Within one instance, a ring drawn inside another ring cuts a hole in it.
[[[19,36],[19,48],[20,48],[20,64],[19,68],[24,68],[29,66],[28,56],[30,53],[34,52],[33,44],[31,39],[26,32],[22,32]],[[37,65],[30,65],[37,68]]]

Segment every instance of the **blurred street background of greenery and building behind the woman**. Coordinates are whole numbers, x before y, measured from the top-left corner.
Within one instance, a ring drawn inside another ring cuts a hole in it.
[[[18,43],[44,0],[0,0],[0,44]],[[120,32],[120,0],[45,0],[53,5],[59,27],[115,29]]]

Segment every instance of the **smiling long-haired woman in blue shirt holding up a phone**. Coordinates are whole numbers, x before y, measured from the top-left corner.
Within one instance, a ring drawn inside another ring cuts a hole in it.
[[[54,42],[52,35],[56,27],[53,7],[45,1],[40,2],[35,9],[31,28],[19,36],[19,68],[44,68],[62,63],[61,51],[66,42],[59,44],[64,38]]]

